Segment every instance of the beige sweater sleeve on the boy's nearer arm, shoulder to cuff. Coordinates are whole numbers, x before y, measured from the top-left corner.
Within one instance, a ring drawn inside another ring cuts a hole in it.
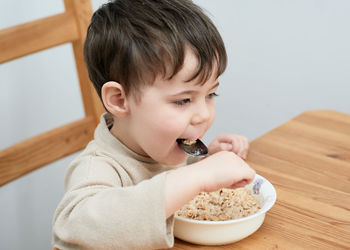
[[[120,173],[108,163],[90,158],[84,164],[67,174],[67,191],[54,216],[54,247],[159,249],[173,246],[173,217],[165,218],[166,173],[123,187]]]

